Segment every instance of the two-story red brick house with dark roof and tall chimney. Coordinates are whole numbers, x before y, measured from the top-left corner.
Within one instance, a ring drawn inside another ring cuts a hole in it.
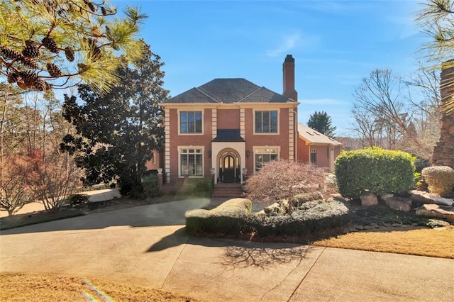
[[[241,183],[277,159],[312,160],[332,170],[341,144],[320,133],[314,135],[323,140],[310,140],[310,128],[297,123],[292,55],[284,60],[283,86],[277,94],[246,79],[214,79],[163,102],[164,152],[148,168],[162,167],[171,184],[211,174],[216,183]]]

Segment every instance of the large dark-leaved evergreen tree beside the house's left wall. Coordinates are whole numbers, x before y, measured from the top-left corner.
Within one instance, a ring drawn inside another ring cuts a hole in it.
[[[65,96],[64,116],[77,130],[67,135],[62,150],[76,153],[85,169],[85,184],[108,182],[118,176],[127,192],[141,187],[145,163],[153,150],[160,150],[164,138],[163,111],[158,104],[167,99],[162,89],[164,72],[160,57],[143,43],[142,57],[131,68],[122,60],[117,73],[121,82],[101,95],[87,85],[75,96]]]

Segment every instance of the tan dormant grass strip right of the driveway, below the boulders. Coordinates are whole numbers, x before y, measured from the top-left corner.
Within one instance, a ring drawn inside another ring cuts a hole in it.
[[[419,230],[378,230],[317,240],[314,245],[454,259],[454,226]]]

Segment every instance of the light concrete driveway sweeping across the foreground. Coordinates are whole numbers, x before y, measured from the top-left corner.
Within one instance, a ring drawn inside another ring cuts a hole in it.
[[[96,276],[207,301],[454,300],[452,259],[188,236],[184,212],[206,203],[138,206],[2,231],[0,272]]]

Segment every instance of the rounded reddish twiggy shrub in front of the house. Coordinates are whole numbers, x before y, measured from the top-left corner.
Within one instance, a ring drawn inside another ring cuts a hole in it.
[[[312,164],[276,160],[267,162],[259,172],[249,177],[245,192],[247,198],[260,203],[282,203],[297,194],[322,192],[325,174]],[[290,208],[291,212],[292,209]]]

